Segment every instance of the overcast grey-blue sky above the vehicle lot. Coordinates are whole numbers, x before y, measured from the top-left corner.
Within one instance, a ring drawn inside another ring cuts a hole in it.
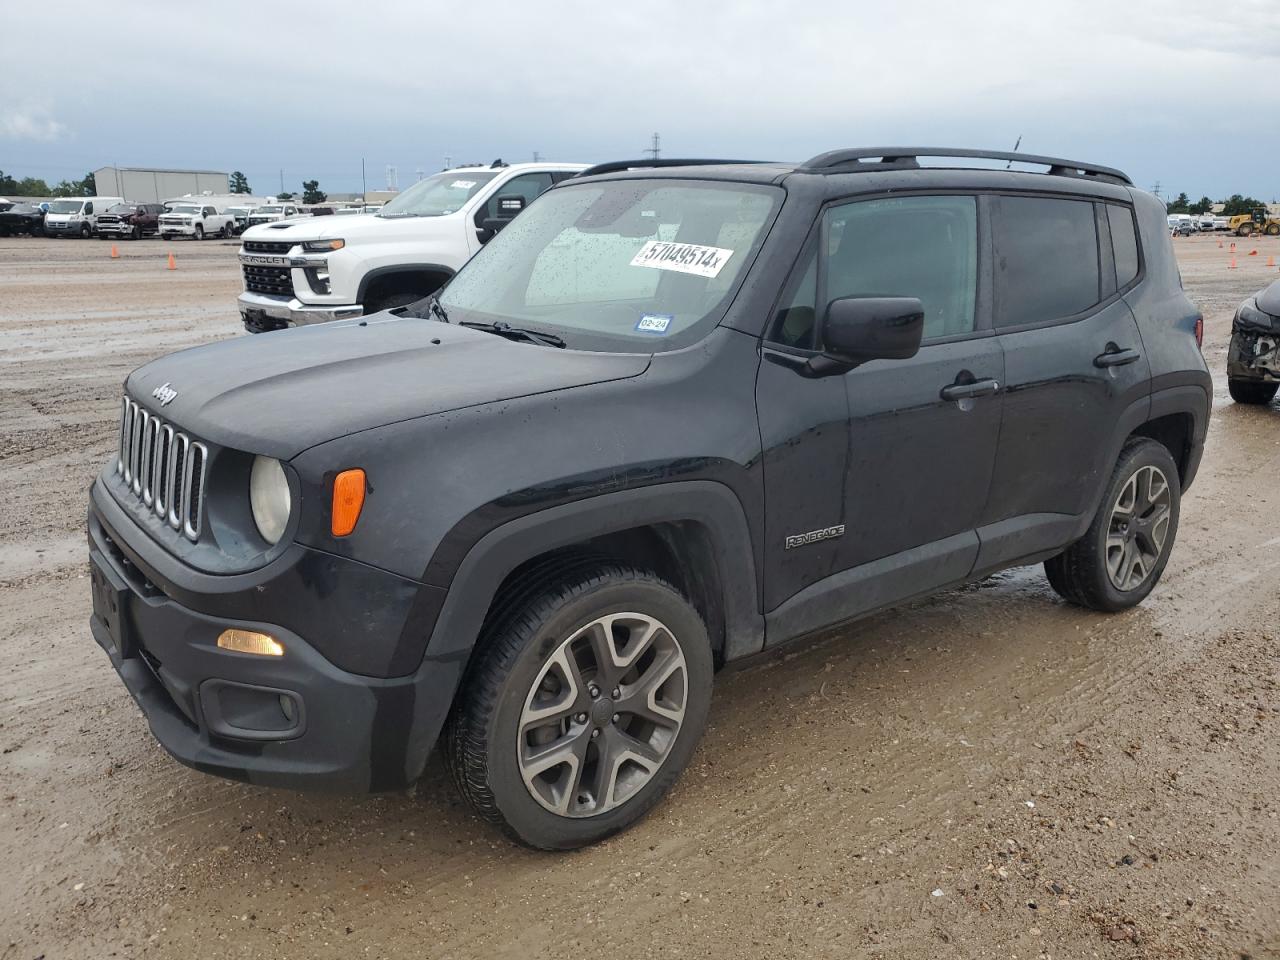
[[[1280,196],[1280,0],[6,4],[0,169],[316,178],[504,157],[1023,150]],[[266,14],[265,10],[270,10]],[[56,26],[52,26],[56,23]]]

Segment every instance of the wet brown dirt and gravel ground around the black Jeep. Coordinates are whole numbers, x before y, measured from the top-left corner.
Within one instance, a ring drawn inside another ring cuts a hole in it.
[[[333,797],[164,754],[88,634],[86,489],[132,367],[241,335],[236,244],[0,239],[0,960],[1280,957],[1280,406],[1222,379],[1280,241],[1176,247],[1217,389],[1146,604],[1015,570],[723,676],[654,815],[547,855],[435,765]]]

